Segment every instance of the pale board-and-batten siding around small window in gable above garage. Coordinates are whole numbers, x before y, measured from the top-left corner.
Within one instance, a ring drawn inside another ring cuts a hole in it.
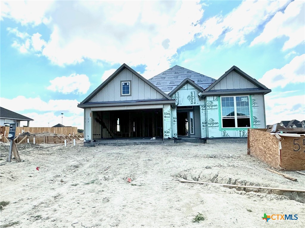
[[[121,81],[131,81],[131,96],[121,96]],[[103,101],[129,101],[129,100],[149,100],[165,98],[149,84],[124,69],[113,80],[111,80],[101,91],[99,91],[89,102]]]

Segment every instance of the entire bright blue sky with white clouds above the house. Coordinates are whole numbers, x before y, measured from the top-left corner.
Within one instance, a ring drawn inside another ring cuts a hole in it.
[[[272,89],[267,124],[301,121],[304,18],[304,1],[1,1],[1,106],[83,128],[77,103],[123,63],[147,79],[235,65]]]

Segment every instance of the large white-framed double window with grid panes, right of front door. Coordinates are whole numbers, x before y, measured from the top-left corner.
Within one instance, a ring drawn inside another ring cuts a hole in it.
[[[250,127],[249,96],[221,97],[222,127]]]

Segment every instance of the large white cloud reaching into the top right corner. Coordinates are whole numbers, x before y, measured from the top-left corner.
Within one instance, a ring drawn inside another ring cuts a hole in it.
[[[266,24],[264,31],[257,36],[250,46],[259,43],[268,43],[275,38],[282,36],[289,39],[284,43],[283,50],[291,49],[304,43],[305,36],[305,2],[293,1],[284,12],[277,12]]]

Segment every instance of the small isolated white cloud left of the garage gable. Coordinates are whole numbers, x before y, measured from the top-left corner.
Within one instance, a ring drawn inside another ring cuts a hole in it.
[[[50,81],[47,89],[63,94],[85,94],[90,88],[89,78],[86,74],[71,74],[70,76],[57,77]]]

